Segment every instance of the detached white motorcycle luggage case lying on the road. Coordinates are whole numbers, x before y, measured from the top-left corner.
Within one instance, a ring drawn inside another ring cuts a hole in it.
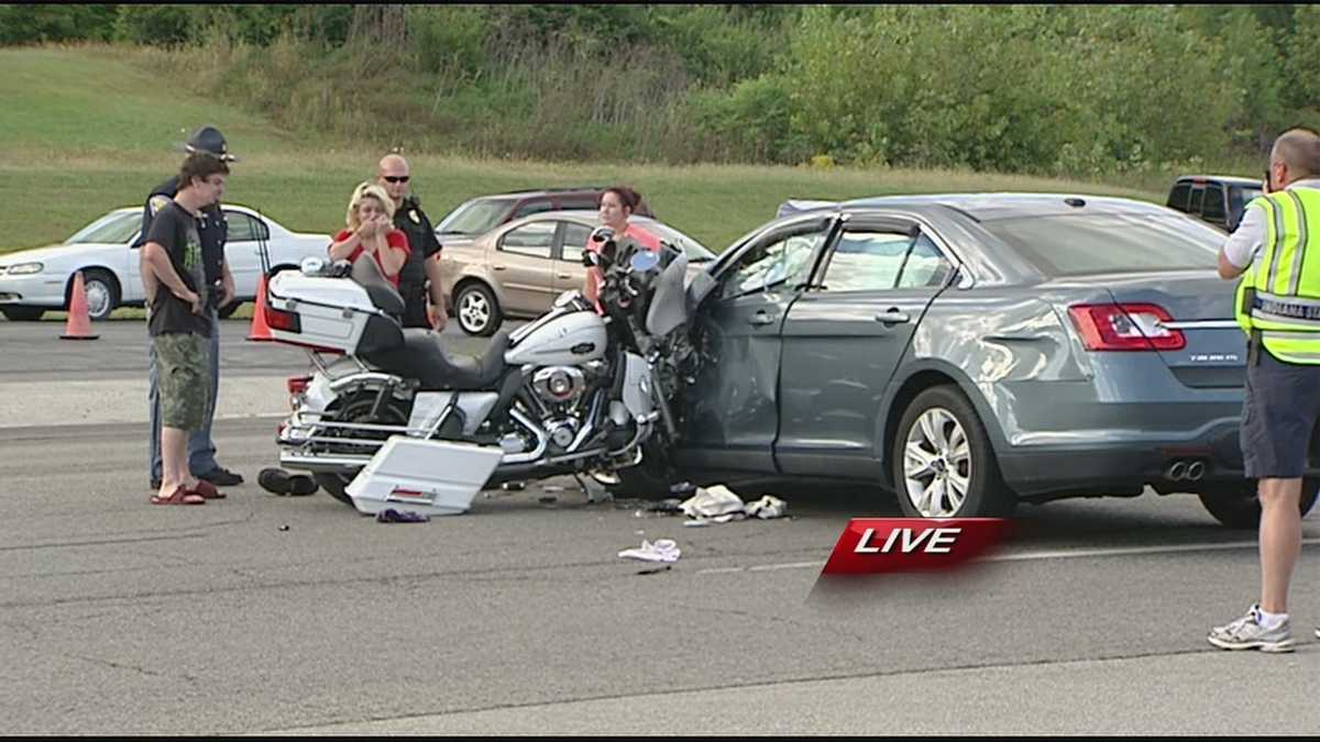
[[[471,507],[503,455],[495,446],[395,436],[371,457],[347,492],[359,512],[393,507],[458,515]]]

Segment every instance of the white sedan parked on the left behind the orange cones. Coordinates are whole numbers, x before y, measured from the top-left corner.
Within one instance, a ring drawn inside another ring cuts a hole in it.
[[[289,231],[244,206],[226,203],[223,209],[228,222],[224,256],[238,293],[238,301],[220,310],[224,317],[256,297],[261,273],[259,238],[265,239],[272,273],[297,269],[306,256],[326,255],[329,235]],[[127,206],[87,224],[63,244],[0,253],[0,313],[11,321],[30,321],[48,309],[67,308],[78,271],[83,273],[92,320],[110,317],[116,306],[141,306],[145,297],[139,253],[132,248],[141,227],[143,207]]]

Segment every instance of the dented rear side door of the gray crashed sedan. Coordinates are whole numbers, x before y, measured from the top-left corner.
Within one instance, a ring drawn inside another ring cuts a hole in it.
[[[880,400],[953,261],[911,219],[843,224],[788,310],[775,458],[785,474],[874,477]]]

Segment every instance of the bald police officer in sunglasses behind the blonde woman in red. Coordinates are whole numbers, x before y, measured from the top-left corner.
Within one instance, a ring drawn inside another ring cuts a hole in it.
[[[417,197],[411,195],[412,174],[408,161],[400,154],[385,154],[376,166],[376,182],[395,202],[395,227],[408,235],[408,263],[399,272],[399,293],[404,297],[404,326],[444,330],[449,321],[445,313],[445,290],[440,283],[440,240],[436,228],[421,210]],[[426,317],[426,283],[430,283],[430,301],[436,306],[434,325]]]

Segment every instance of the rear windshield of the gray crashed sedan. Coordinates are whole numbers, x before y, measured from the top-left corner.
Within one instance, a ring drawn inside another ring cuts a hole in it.
[[[1051,276],[1214,268],[1224,234],[1179,214],[1068,214],[981,226]]]

